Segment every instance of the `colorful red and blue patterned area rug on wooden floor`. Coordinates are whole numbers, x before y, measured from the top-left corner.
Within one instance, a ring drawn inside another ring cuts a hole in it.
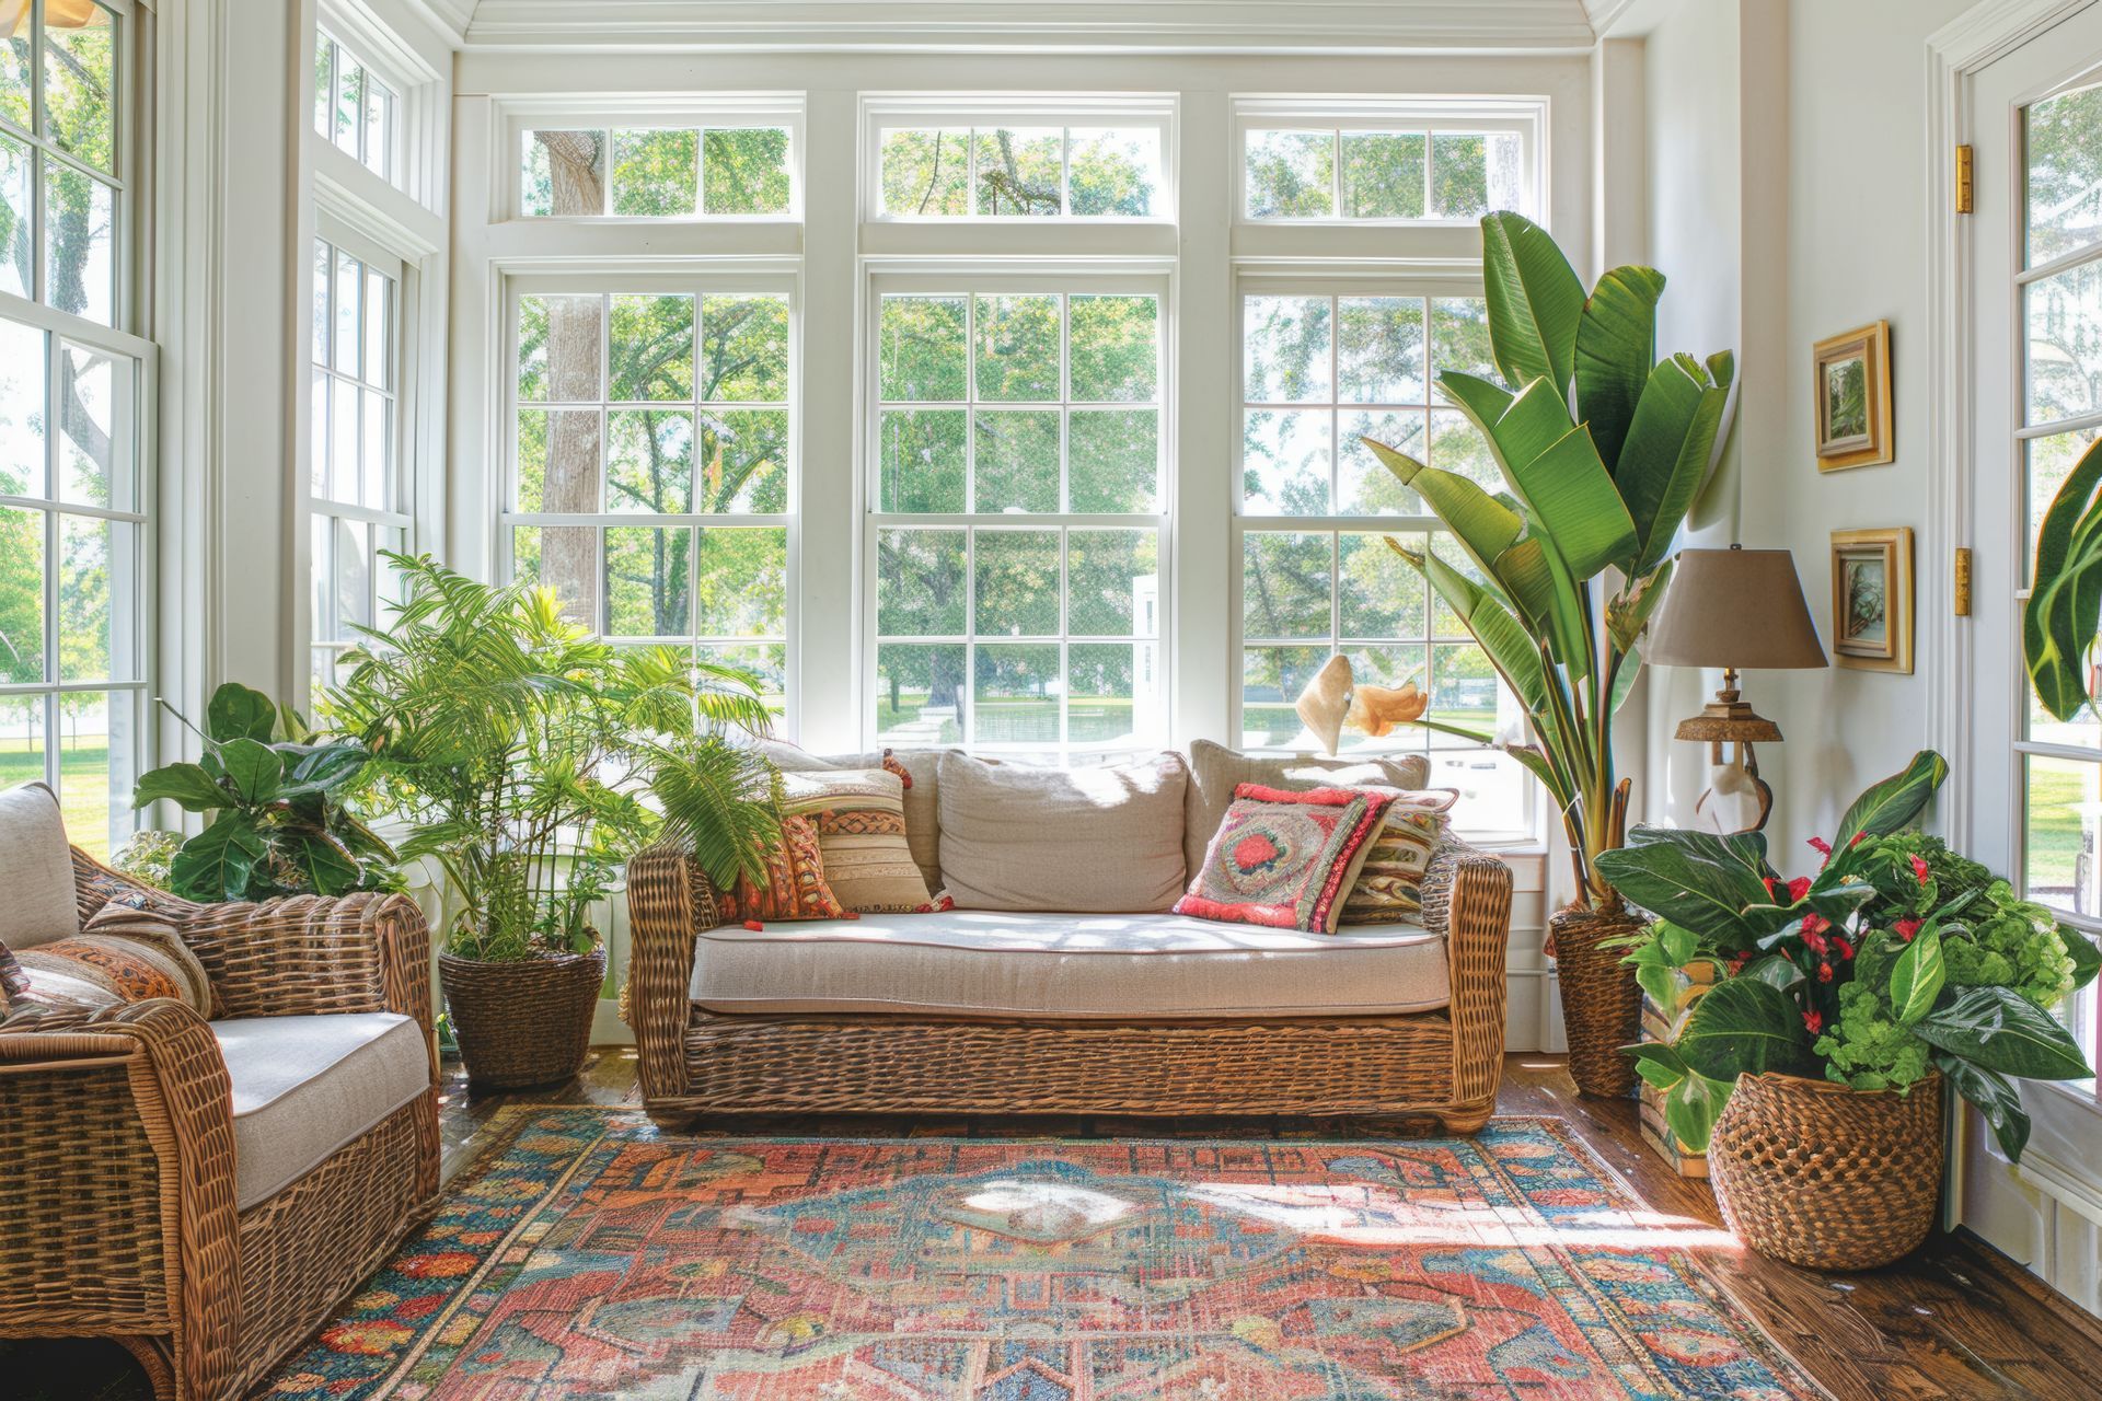
[[[1820,1397],[1694,1264],[1711,1241],[1555,1120],[1377,1145],[715,1141],[519,1109],[267,1395]]]

